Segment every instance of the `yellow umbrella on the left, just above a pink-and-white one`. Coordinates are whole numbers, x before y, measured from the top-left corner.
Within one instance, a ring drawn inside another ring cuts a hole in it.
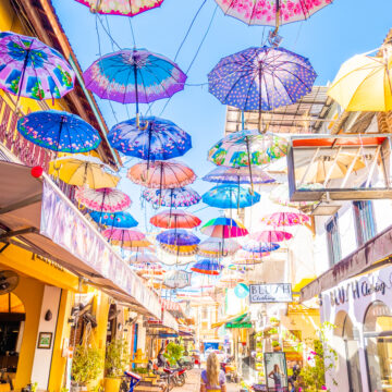
[[[49,174],[71,185],[91,188],[115,187],[120,177],[100,159],[85,155],[69,155],[50,162]]]

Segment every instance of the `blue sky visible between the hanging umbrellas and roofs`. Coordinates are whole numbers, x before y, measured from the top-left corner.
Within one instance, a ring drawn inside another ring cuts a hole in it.
[[[112,47],[108,35],[88,8],[74,0],[52,2],[83,70],[99,57],[98,37],[101,54],[118,50],[115,46]],[[204,0],[164,0],[161,8],[133,17],[136,46],[173,59],[203,2]],[[268,34],[269,27],[249,27],[224,16],[220,9],[216,10],[213,0],[207,0],[177,57],[176,62],[182,70],[188,69],[213,13],[210,30],[188,72],[188,84],[205,84],[208,72],[222,57],[250,46],[260,46],[262,36]],[[391,15],[391,0],[335,0],[332,5],[306,22],[282,26],[280,35],[284,39],[281,46],[309,58],[318,73],[315,84],[324,85],[334,78],[344,60],[355,53],[376,49],[382,44],[392,27]],[[107,29],[109,27],[111,36],[121,48],[133,47],[128,17],[113,15],[101,16],[100,20]],[[115,119],[108,101],[99,98],[97,101],[109,127],[117,121],[134,117],[134,106],[124,108],[113,103]],[[160,115],[164,103],[162,101],[154,105],[152,113]],[[146,108],[142,108],[143,110]],[[173,96],[161,117],[175,122],[193,137],[194,148],[182,160],[191,166],[198,176],[211,170],[212,164],[206,161],[207,150],[222,137],[225,107],[208,93],[208,86],[186,86],[184,91]],[[133,162],[136,163],[136,160],[131,161],[128,166]],[[124,175],[125,171],[122,174]],[[145,221],[154,210],[147,208],[140,212],[140,192],[128,180],[124,179],[120,186],[134,200],[131,212],[139,220],[140,229],[145,230]],[[211,184],[200,180],[194,184],[200,193],[210,186]],[[191,210],[196,211],[203,207],[199,205]],[[205,219],[217,215],[218,211],[210,208],[200,212],[200,217]]]

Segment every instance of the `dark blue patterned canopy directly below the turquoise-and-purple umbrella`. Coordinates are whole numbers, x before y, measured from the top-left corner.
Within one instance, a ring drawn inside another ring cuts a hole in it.
[[[192,148],[191,135],[169,120],[156,117],[126,120],[114,125],[108,135],[110,144],[126,156],[149,161],[183,156]]]

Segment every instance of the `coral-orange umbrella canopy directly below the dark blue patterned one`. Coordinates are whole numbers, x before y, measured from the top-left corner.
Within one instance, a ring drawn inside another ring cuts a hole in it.
[[[192,184],[196,174],[187,166],[177,161],[156,161],[148,167],[147,162],[134,164],[127,177],[135,184],[149,188],[175,188]]]

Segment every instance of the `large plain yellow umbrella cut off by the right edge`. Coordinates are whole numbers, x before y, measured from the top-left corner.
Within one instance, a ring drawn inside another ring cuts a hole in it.
[[[347,111],[392,110],[392,56],[356,54],[344,62],[328,95]]]

